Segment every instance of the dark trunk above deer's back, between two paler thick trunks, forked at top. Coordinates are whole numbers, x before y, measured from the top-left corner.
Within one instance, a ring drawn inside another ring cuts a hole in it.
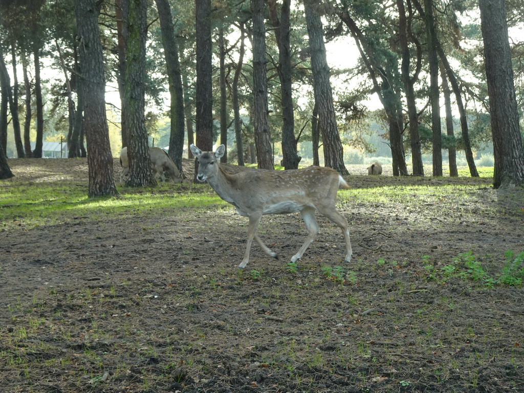
[[[292,67],[289,42],[290,3],[291,0],[282,1],[280,20],[278,20],[276,0],[269,0],[268,6],[278,45],[278,77],[280,79],[280,100],[282,105],[282,163],[285,169],[297,169],[301,157],[298,155],[297,138],[294,135]]]

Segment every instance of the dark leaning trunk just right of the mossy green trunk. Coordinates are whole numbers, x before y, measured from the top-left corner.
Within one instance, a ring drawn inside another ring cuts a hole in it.
[[[174,37],[174,25],[171,6],[168,0],[156,0],[162,43],[166,57],[171,96],[170,118],[171,135],[169,138],[169,157],[182,173],[182,154],[184,150],[184,96],[182,90],[182,74],[178,58],[178,46]],[[189,150],[189,149],[188,149]]]

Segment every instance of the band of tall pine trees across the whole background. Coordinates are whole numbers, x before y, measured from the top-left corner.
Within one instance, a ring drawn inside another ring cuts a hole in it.
[[[272,169],[280,143],[285,169],[297,168],[297,145],[311,140],[314,163],[320,152],[326,166],[347,174],[343,145],[369,147],[346,131],[362,127],[370,95],[382,106],[395,176],[408,174],[408,154],[412,174],[423,176],[428,148],[433,176],[442,176],[442,149],[451,176],[457,149],[478,176],[471,121],[489,114],[494,185],[522,185],[524,105],[515,92],[524,91],[524,52],[522,41],[510,45],[508,27],[522,27],[523,10],[515,0],[2,1],[0,178],[12,176],[8,127],[17,156],[39,158],[52,118],[69,157],[88,156],[89,195],[116,195],[104,96],[112,85],[129,186],[155,183],[146,107],[169,116],[169,155],[180,169],[184,139],[211,150],[231,132],[223,160]],[[478,12],[476,24],[461,22]],[[340,56],[358,63],[331,69],[325,44],[343,39],[357,52]],[[51,73],[59,82],[46,79]]]

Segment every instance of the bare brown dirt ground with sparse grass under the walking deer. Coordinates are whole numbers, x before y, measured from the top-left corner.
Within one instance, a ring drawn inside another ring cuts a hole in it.
[[[10,183],[87,187],[85,159],[8,162]],[[191,168],[184,161],[189,178]],[[456,259],[471,251],[494,277],[507,250],[524,251],[522,191],[349,169],[355,189],[406,195],[340,200],[351,264],[339,228],[320,219],[316,241],[288,265],[305,236],[293,214],[260,225],[280,259],[254,245],[240,270],[247,221],[222,203],[0,224],[0,391],[523,392],[522,287],[490,288]],[[447,184],[457,192],[442,198]],[[463,275],[445,275],[450,266]]]

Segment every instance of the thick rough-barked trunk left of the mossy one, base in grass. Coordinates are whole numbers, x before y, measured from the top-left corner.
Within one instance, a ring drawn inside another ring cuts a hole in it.
[[[113,178],[113,156],[105,114],[104,58],[95,0],[77,0],[77,28],[80,40],[80,67],[85,99],[85,128],[89,149],[90,197],[118,195]]]

